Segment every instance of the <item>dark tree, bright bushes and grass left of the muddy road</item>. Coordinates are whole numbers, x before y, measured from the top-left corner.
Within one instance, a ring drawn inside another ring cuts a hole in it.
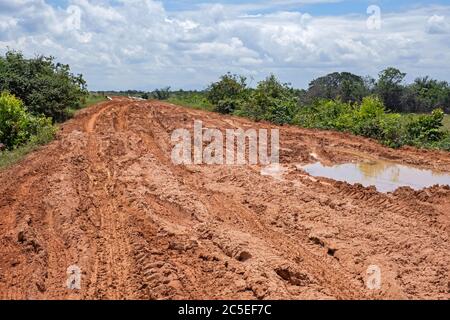
[[[88,99],[83,77],[53,57],[0,56],[0,168],[53,140],[57,123]]]

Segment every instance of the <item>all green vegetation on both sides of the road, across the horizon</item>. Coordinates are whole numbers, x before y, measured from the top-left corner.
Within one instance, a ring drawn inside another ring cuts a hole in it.
[[[227,73],[203,91],[87,91],[82,75],[53,57],[0,56],[0,168],[51,141],[57,123],[83,107],[122,95],[158,99],[191,108],[349,132],[386,146],[450,151],[450,86],[429,77],[405,84],[405,73],[387,68],[378,79],[348,72],[317,78],[299,90],[269,75],[254,87]]]

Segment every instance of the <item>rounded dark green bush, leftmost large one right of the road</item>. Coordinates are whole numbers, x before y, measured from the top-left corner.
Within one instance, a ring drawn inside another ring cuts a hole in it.
[[[227,73],[220,80],[212,83],[207,89],[207,99],[220,113],[233,113],[239,100],[246,93],[247,79],[243,76]]]

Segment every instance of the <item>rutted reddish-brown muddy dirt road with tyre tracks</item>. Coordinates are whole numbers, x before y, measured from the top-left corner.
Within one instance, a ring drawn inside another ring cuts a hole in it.
[[[116,98],[0,172],[0,298],[450,298],[450,188],[383,194],[296,169],[313,153],[450,172],[450,153],[286,126],[282,180],[259,166],[176,166],[171,133],[195,119],[270,127]],[[66,286],[73,265],[80,290]],[[366,287],[369,265],[379,290]]]

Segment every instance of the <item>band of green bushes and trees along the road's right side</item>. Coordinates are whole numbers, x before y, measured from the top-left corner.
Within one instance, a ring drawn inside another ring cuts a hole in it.
[[[332,73],[298,90],[274,75],[251,88],[245,77],[228,73],[203,92],[166,90],[166,99],[255,121],[348,132],[393,148],[450,151],[449,85],[428,77],[404,84],[405,76],[395,68],[377,80]]]

